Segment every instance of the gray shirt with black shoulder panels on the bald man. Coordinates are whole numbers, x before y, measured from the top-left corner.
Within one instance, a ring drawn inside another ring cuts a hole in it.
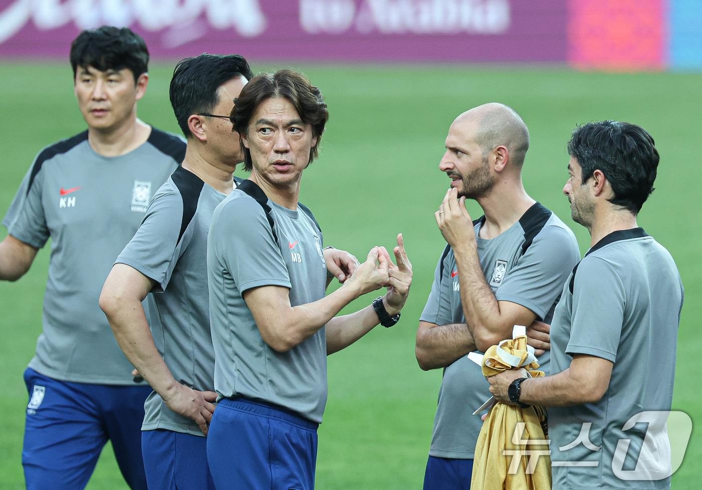
[[[478,236],[483,223],[484,217],[474,222],[478,257],[496,299],[520,304],[539,320],[550,322],[563,283],[580,258],[573,232],[539,203],[491,240]],[[465,323],[458,268],[450,247],[439,259],[420,320],[436,325]],[[547,374],[549,357],[547,351],[538,358]],[[482,427],[480,415],[472,412],[489,397],[489,383],[480,367],[465,355],[446,367],[429,454],[472,459]]]

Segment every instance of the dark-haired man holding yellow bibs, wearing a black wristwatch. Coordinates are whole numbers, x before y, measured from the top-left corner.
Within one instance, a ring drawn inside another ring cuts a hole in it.
[[[670,489],[665,421],[683,288],[668,251],[637,226],[658,151],[648,132],[618,121],[576,128],[568,151],[563,192],[591,247],[552,320],[552,375],[504,372],[489,378],[491,392],[550,407],[553,489]]]

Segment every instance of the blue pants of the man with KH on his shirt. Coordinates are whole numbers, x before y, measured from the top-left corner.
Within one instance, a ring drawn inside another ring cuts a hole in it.
[[[141,423],[149,386],[72,383],[25,371],[22,466],[27,490],[81,490],[107,440],[127,484],[146,490]]]

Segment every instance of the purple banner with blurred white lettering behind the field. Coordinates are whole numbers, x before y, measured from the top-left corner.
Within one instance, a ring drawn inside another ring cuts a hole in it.
[[[62,57],[126,25],[153,57],[565,62],[563,0],[0,0],[0,57]]]

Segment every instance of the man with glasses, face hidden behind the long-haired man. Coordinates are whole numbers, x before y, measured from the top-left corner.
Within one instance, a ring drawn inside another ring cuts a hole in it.
[[[142,426],[150,490],[214,488],[204,437],[217,397],[207,233],[215,207],[241,182],[233,173],[244,158],[229,114],[252,77],[239,55],[178,63],[171,104],[187,138],[185,160],[157,191],[100,297],[119,346],[154,388]],[[354,266],[346,252],[325,254],[329,264],[340,256]]]

